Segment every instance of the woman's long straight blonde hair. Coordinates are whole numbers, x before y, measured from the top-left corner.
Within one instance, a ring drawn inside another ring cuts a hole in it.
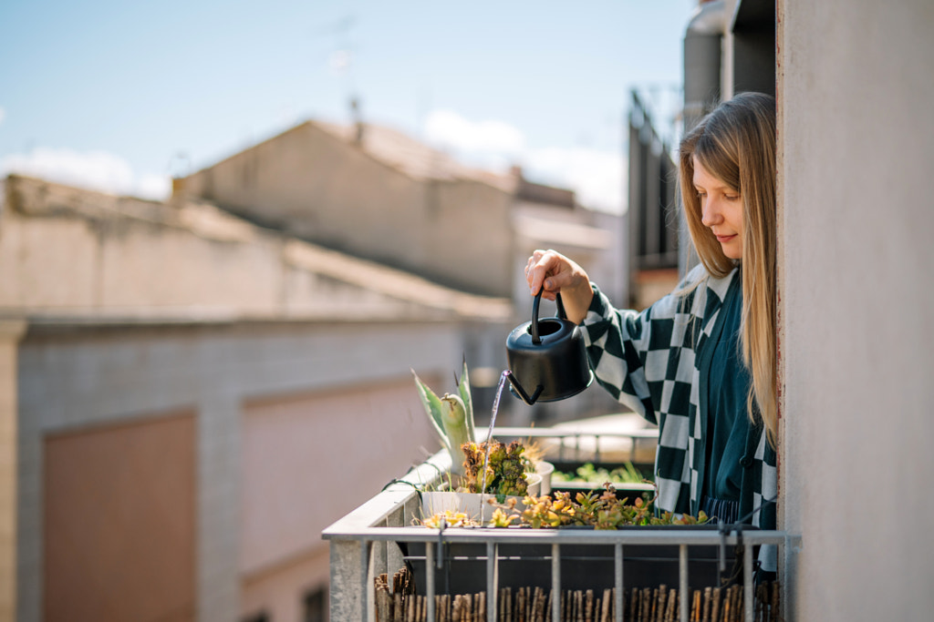
[[[775,100],[741,93],[724,102],[690,132],[679,149],[681,198],[701,263],[724,277],[737,262],[723,254],[714,232],[701,223],[694,188],[694,158],[743,199],[743,361],[752,376],[749,417],[762,418],[772,445],[778,430],[775,291]]]

